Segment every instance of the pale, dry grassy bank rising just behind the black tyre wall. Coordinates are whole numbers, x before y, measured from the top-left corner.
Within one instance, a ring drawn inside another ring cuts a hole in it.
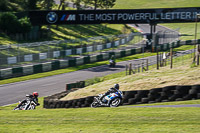
[[[191,54],[173,59],[173,69],[168,66],[156,69],[152,66],[149,71],[125,76],[125,72],[101,77],[99,83],[87,86],[72,92],[63,100],[77,99],[86,96],[94,96],[106,92],[114,84],[120,84],[120,90],[148,90],[162,88],[170,85],[194,85],[200,84],[200,67],[192,67]],[[96,80],[97,81],[97,80]]]

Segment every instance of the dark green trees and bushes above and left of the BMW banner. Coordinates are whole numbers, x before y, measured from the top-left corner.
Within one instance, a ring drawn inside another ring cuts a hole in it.
[[[7,35],[15,33],[27,33],[32,29],[29,18],[18,18],[15,14],[29,10],[65,10],[69,2],[75,5],[77,10],[85,7],[97,9],[109,9],[115,5],[116,0],[0,0],[0,32]],[[60,3],[56,5],[55,3]]]

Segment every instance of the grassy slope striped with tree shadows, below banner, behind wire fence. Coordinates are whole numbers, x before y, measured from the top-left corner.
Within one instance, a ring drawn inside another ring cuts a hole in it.
[[[120,35],[123,33],[130,33],[130,31],[132,31],[130,28],[125,28],[125,27],[126,26],[124,26],[123,24],[96,24],[96,25],[79,24],[79,25],[59,25],[58,27],[56,27],[56,25],[51,25],[48,37],[40,38],[37,40],[17,41],[11,38],[10,36],[7,36],[4,33],[0,33],[0,45]],[[46,28],[47,26],[42,26],[42,29]]]

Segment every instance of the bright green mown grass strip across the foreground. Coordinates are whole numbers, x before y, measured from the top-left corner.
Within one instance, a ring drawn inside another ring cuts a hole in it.
[[[1,132],[198,133],[200,128],[199,108],[13,108],[14,105],[0,107]]]

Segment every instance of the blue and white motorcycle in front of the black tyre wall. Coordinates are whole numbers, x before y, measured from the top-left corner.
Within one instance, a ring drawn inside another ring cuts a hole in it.
[[[91,104],[92,108],[96,107],[118,107],[123,98],[123,94],[120,90],[118,90],[115,93],[111,93],[103,98],[101,101],[100,98],[103,96],[103,94],[99,94],[97,97],[94,97],[94,101]],[[106,101],[106,102],[103,102]]]

